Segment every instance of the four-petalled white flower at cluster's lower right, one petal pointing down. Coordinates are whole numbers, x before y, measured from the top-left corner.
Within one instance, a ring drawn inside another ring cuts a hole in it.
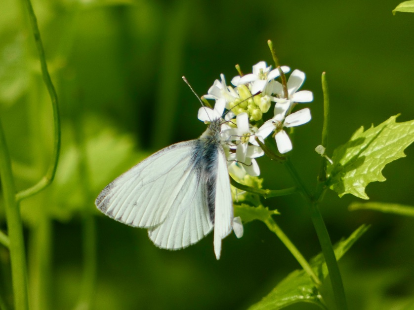
[[[264,138],[269,136],[273,131],[276,131],[275,140],[281,154],[285,154],[292,149],[292,142],[283,128],[303,125],[311,120],[309,108],[301,109],[285,118],[285,114],[289,107],[290,101],[287,101],[286,103],[276,103],[275,116],[266,121],[256,132],[256,136],[261,141],[264,141]],[[257,144],[257,142],[253,144]]]

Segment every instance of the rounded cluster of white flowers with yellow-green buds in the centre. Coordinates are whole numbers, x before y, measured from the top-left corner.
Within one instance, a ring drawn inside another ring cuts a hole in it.
[[[230,146],[230,173],[240,174],[242,167],[248,175],[258,176],[260,169],[255,158],[263,156],[264,152],[256,138],[264,143],[264,139],[272,134],[279,152],[285,154],[292,149],[285,128],[310,121],[309,108],[293,112],[297,103],[313,100],[312,92],[298,91],[305,80],[305,73],[294,70],[286,85],[282,85],[276,81],[281,71],[288,73],[290,68],[283,66],[272,70],[262,61],[253,66],[252,73],[235,76],[231,80],[232,86],[226,84],[221,74],[221,81],[215,80],[204,96],[215,100],[214,108],[201,108],[198,118],[203,122],[224,118],[221,135]],[[263,115],[270,110],[272,103],[274,116],[264,121]],[[227,112],[224,114],[225,109]]]

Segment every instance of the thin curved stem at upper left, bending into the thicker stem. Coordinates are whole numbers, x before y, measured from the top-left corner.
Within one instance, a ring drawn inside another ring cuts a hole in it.
[[[37,184],[17,193],[16,199],[18,201],[21,201],[22,199],[35,195],[36,193],[43,190],[46,186],[48,186],[53,181],[53,178],[55,177],[55,174],[56,174],[57,163],[59,160],[60,142],[61,142],[60,141],[60,119],[59,119],[59,109],[58,109],[56,90],[53,86],[49,71],[47,69],[46,57],[44,54],[44,49],[43,49],[43,45],[41,42],[41,35],[39,32],[38,22],[36,20],[36,15],[33,10],[32,3],[30,0],[24,0],[24,2],[26,4],[26,8],[29,13],[30,26],[32,28],[33,36],[35,38],[36,48],[39,53],[39,59],[41,63],[41,74],[43,77],[43,81],[46,84],[47,91],[49,93],[49,96],[52,102],[53,123],[54,123],[53,124],[54,125],[54,141],[53,141],[54,147],[53,147],[52,160],[51,160],[50,166],[46,174],[41,178],[41,180]]]

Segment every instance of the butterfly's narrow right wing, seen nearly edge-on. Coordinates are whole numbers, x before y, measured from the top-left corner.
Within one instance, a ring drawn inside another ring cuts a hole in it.
[[[214,209],[214,253],[216,258],[220,259],[221,240],[230,234],[234,217],[227,160],[222,147],[218,148],[217,163]]]

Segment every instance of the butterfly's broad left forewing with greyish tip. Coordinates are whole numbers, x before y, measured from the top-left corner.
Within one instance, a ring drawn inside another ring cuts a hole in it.
[[[188,200],[191,191],[186,194],[186,186],[193,186],[193,192],[199,190],[195,188],[198,183],[194,183],[192,159],[196,143],[197,140],[176,143],[143,160],[106,186],[95,201],[96,207],[130,226],[155,228],[161,225],[171,208]],[[199,193],[193,196],[193,206],[182,207],[203,209],[200,207],[202,196]],[[204,216],[199,220],[205,232],[211,223],[207,223]]]

